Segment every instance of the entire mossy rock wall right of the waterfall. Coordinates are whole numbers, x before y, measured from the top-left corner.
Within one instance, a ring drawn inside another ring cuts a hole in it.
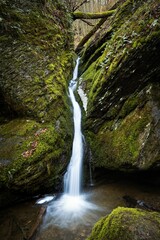
[[[82,87],[85,129],[95,167],[160,167],[159,1],[120,1],[86,44]]]

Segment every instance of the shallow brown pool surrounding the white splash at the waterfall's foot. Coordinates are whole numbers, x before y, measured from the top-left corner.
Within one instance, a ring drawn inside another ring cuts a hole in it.
[[[140,183],[138,181],[135,182],[133,179],[111,177],[107,180],[98,181],[95,186],[88,187],[85,191],[86,206],[82,205],[80,211],[81,216],[74,216],[74,219],[68,219],[65,214],[61,212],[62,222],[60,222],[54,219],[56,216],[54,212],[53,219],[51,219],[52,213],[50,212],[51,214],[49,214],[48,217],[46,211],[41,227],[36,236],[32,239],[84,240],[90,234],[94,223],[100,217],[108,215],[118,206],[126,206],[126,202],[123,198],[125,195],[131,196],[137,200],[142,200],[148,205],[160,209],[159,187]],[[47,204],[38,205],[36,204],[36,200],[32,200],[1,210],[0,239],[29,239],[33,231],[33,225],[39,216],[40,209],[43,207],[52,209],[56,201],[59,201],[59,199],[55,199]],[[64,225],[64,222],[66,222],[66,225]]]

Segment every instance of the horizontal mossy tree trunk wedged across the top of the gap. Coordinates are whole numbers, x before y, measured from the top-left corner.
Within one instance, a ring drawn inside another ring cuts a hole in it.
[[[107,18],[115,13],[116,10],[110,10],[102,13],[83,13],[83,12],[74,12],[72,13],[73,20],[76,19],[97,19],[97,18]]]

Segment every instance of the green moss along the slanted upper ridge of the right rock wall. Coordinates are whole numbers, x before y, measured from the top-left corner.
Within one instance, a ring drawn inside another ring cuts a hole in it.
[[[93,106],[98,101],[97,98],[101,94],[101,89],[106,86],[107,82],[112,81],[114,76],[118,75],[122,64],[129,62],[130,56],[133,56],[135,51],[140,51],[144,45],[149,44],[149,39],[153,40],[152,34],[158,34],[159,19],[155,19],[152,11],[152,9],[157,8],[157,4],[158,1],[154,3],[148,1],[125,1],[120,6],[112,20],[112,37],[103,43],[106,48],[101,53],[101,56],[96,59],[96,62],[102,68],[100,75],[96,78],[95,73],[92,73],[90,68],[84,73],[85,76],[89,75],[87,72],[90,72],[90,78],[94,79],[92,87],[88,88],[91,89],[89,91],[91,92],[90,96],[92,96],[91,100],[89,98],[89,102],[91,101]],[[91,44],[93,43],[91,42]],[[94,53],[90,54],[90,59],[94,58],[95,49],[92,52]],[[85,57],[84,53],[83,58],[85,59]],[[134,69],[132,70],[134,71]],[[99,87],[99,84],[101,87]]]

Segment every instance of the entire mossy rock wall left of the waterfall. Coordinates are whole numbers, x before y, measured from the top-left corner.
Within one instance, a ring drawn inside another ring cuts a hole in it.
[[[70,17],[58,1],[0,3],[0,186],[54,188],[71,149]]]

